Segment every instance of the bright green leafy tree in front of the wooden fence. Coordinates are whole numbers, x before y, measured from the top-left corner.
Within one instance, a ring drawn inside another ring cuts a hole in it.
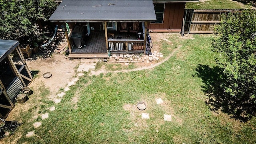
[[[236,115],[255,115],[256,108],[256,11],[222,15],[212,46],[219,53],[221,83],[229,110]]]

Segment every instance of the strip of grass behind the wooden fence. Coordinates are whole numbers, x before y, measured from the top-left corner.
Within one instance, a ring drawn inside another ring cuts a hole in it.
[[[242,3],[241,3],[242,4]],[[232,0],[205,0],[204,2],[187,2],[186,8],[192,9],[241,9],[246,8]]]

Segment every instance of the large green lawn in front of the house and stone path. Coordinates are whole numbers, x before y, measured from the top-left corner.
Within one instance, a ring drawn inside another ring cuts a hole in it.
[[[66,92],[61,103],[54,104],[49,118],[33,120],[33,115],[50,105],[49,94],[42,86],[34,107],[20,112],[23,124],[6,142],[20,134],[18,144],[87,144],[87,143],[175,143],[175,144],[246,144],[256,143],[256,118],[240,122],[225,113],[212,112],[205,104],[205,84],[196,76],[198,66],[216,66],[210,50],[213,35],[190,35],[177,38],[170,34],[173,45],[162,44],[164,54],[180,46],[169,60],[154,69],[135,72],[100,74],[80,77]],[[30,100],[33,100],[32,95]],[[162,98],[163,104],[156,104]],[[40,102],[39,102],[40,101]],[[144,101],[144,111],[135,104]],[[150,119],[142,119],[149,113]],[[163,115],[172,115],[172,122]],[[42,126],[34,128],[34,122]],[[34,130],[36,136],[26,138]],[[38,137],[37,137],[38,136]]]

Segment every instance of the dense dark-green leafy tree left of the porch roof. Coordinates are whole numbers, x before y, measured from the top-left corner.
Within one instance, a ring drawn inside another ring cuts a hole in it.
[[[56,9],[53,0],[0,0],[0,39],[33,43],[43,40],[38,21],[47,21]]]

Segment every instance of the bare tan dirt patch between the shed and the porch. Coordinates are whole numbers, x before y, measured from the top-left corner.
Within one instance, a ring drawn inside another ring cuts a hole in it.
[[[47,59],[37,59],[28,61],[27,65],[30,70],[38,70],[38,78],[34,79],[30,86],[37,86],[43,83],[50,92],[56,94],[60,88],[64,88],[70,79],[76,74],[76,66],[80,59],[65,59],[61,54],[53,54]],[[45,72],[52,73],[52,77],[43,78]]]

